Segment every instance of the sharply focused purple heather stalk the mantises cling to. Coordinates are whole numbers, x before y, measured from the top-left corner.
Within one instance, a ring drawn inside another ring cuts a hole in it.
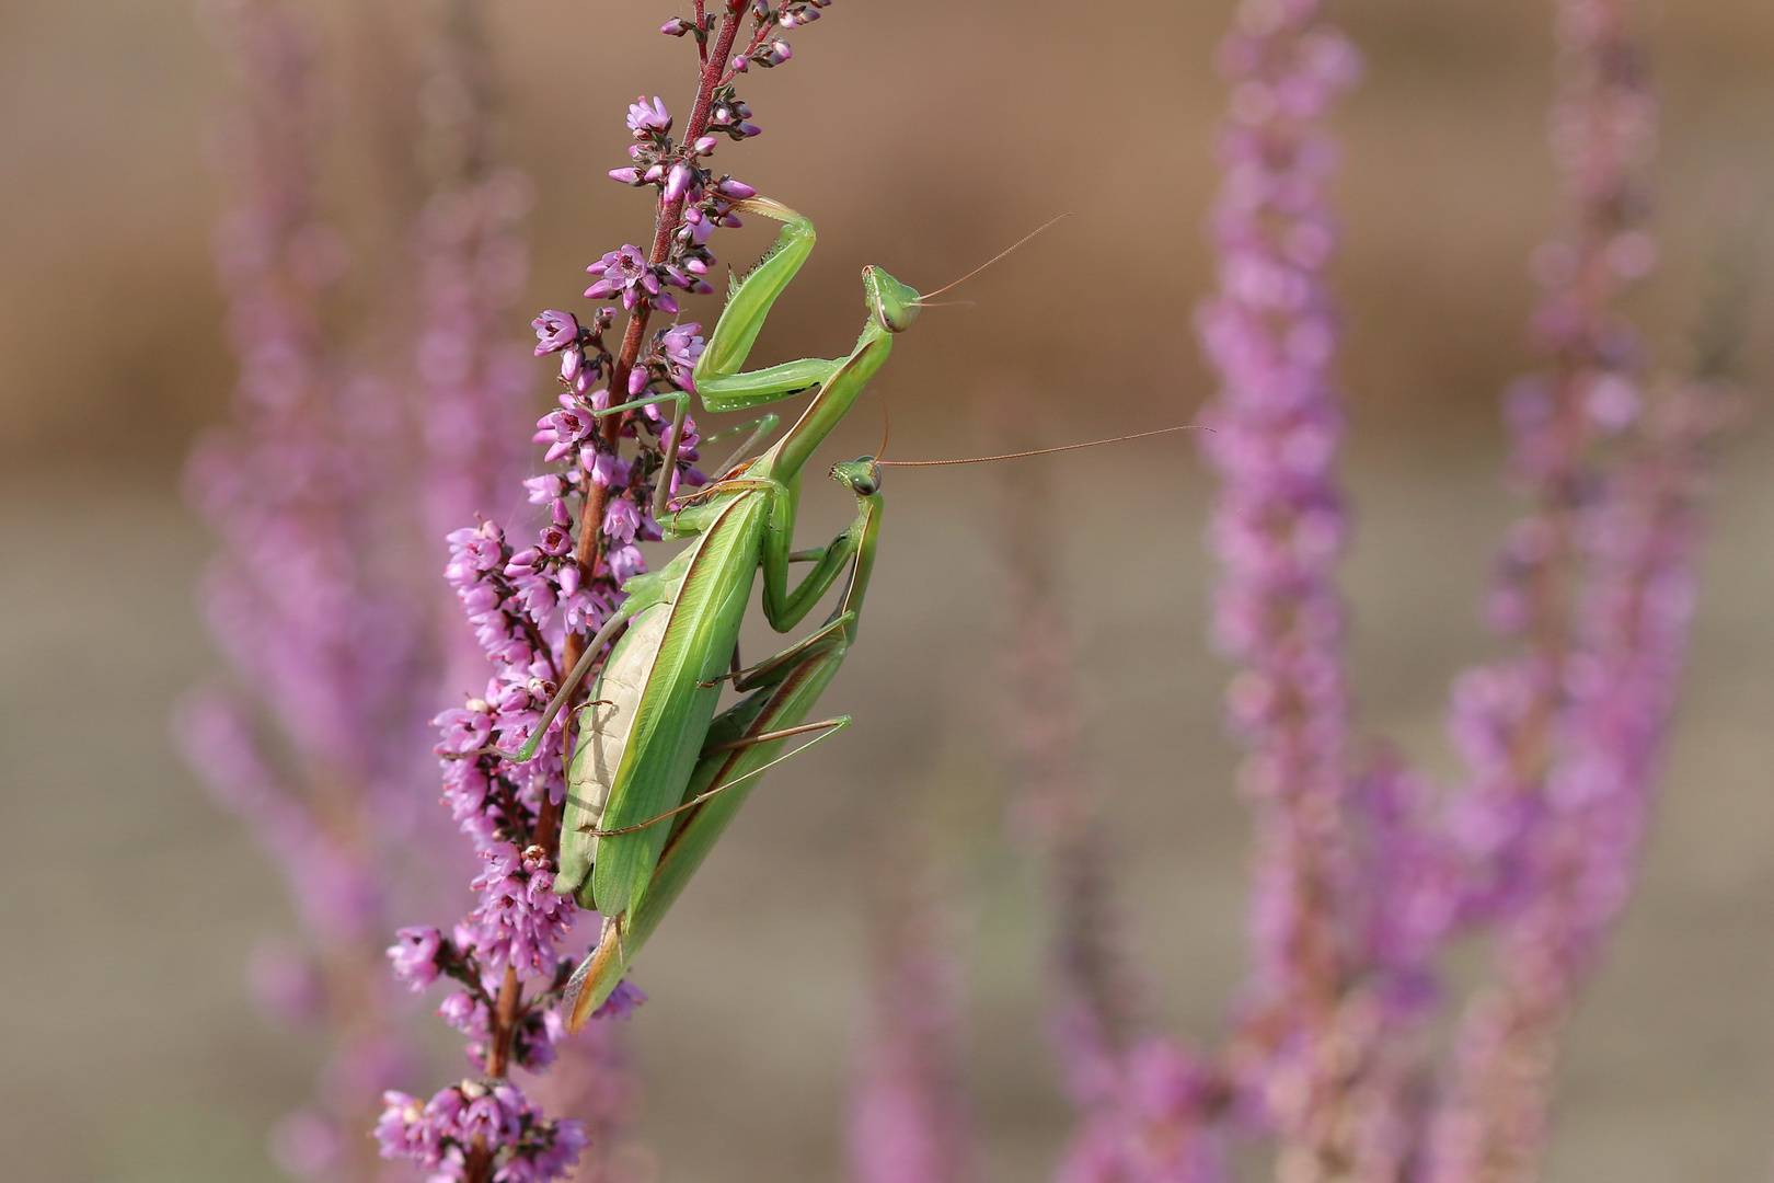
[[[449,536],[445,578],[456,589],[475,639],[491,663],[484,697],[436,717],[444,796],[484,862],[474,880],[479,905],[444,935],[406,928],[389,956],[413,990],[449,979],[456,990],[440,1015],[468,1036],[477,1075],[420,1101],[389,1093],[376,1128],[381,1153],[404,1156],[436,1178],[486,1183],[561,1178],[585,1146],[584,1123],[546,1117],[520,1089],[513,1068],[545,1069],[566,1036],[557,1013],[573,958],[562,951],[573,903],[553,892],[561,775],[568,743],[561,720],[539,738],[534,759],[511,763],[488,748],[516,750],[541,724],[543,708],[585,639],[621,603],[621,585],[646,569],[637,541],[658,539],[649,516],[653,490],[703,484],[695,470],[697,435],[683,420],[676,463],[665,472],[674,431],[656,404],[598,417],[648,394],[694,392],[690,372],[703,351],[701,325],[649,333],[655,312],[676,314],[671,289],[711,293],[703,278],[720,225],[738,225],[734,202],[754,195],[706,165],[726,135],[757,135],[736,76],[752,66],[789,59],[782,30],[820,16],[830,0],[768,4],[724,0],[718,12],[697,0],[692,18],[660,30],[694,37],[697,90],[688,128],[674,140],[672,117],[658,98],[628,110],[632,165],[612,177],[655,197],[649,252],[623,245],[593,262],[591,300],[616,300],[626,314],[621,339],[610,332],[619,310],[600,307],[585,323],[571,312],[536,317],[538,356],[559,356],[561,410],[538,424],[553,470],[525,481],[529,500],[546,507],[546,525],[527,546],[513,544],[495,521]],[[743,43],[742,43],[743,35]],[[607,1022],[640,1002],[623,984],[598,1013]]]

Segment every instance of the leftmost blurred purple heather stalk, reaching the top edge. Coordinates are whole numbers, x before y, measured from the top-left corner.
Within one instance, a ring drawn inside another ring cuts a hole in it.
[[[229,426],[199,443],[186,479],[222,541],[202,598],[239,688],[192,695],[179,731],[216,800],[284,871],[305,933],[255,954],[261,1002],[332,1045],[312,1107],[273,1139],[277,1158],[300,1176],[371,1179],[381,1171],[358,1132],[406,1066],[378,945],[433,693],[424,612],[401,571],[410,555],[383,529],[408,468],[392,392],[321,328],[348,259],[314,209],[312,34],[275,2],[209,16],[239,103],[216,140],[239,383]]]

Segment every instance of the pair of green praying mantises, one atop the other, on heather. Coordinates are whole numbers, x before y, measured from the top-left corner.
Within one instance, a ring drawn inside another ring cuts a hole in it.
[[[658,571],[623,585],[623,605],[587,644],[536,734],[520,752],[506,754],[518,761],[534,756],[548,724],[621,633],[589,701],[577,708],[578,743],[568,763],[553,890],[603,913],[598,945],[568,984],[571,1030],[621,983],[630,960],[726,832],[757,777],[850,724],[850,717],[805,720],[857,639],[882,520],[882,463],[864,456],[830,470],[855,495],[857,516],[830,544],[797,552],[800,479],[926,298],[880,268],[864,268],[869,319],[848,356],[742,372],[770,309],[807,261],[816,236],[807,218],[773,200],[756,197],[736,209],[773,218],[782,231],[759,264],[733,286],[695,364],[695,390],[710,411],[745,411],[807,390],[816,394],[777,443],[672,502],[669,513],[660,513],[667,509],[660,490],[655,513],[665,537],[694,539],[692,544]],[[683,394],[637,399],[605,413],[660,401],[678,403],[674,422],[681,426]],[[763,427],[754,438],[772,429],[775,417],[757,422]],[[1178,427],[1142,435],[1167,431]],[[676,436],[674,429],[671,440]],[[674,450],[672,443],[662,472],[672,470]],[[811,562],[812,569],[789,587],[793,562]],[[823,626],[757,665],[736,669],[740,624],[759,569],[765,617],[777,631],[788,631],[846,568],[843,594]],[[745,697],[717,715],[722,683],[729,679]],[[818,734],[781,754],[793,736],[809,733]]]

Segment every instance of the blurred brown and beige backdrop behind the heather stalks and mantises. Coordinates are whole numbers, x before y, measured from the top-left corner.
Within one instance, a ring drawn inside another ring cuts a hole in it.
[[[1229,7],[834,5],[791,67],[749,87],[766,133],[724,153],[820,223],[765,353],[848,344],[864,262],[944,282],[1073,211],[976,280],[974,307],[931,312],[901,342],[878,387],[894,450],[1187,422],[1208,388],[1190,316],[1210,282],[1199,225],[1222,101],[1210,55]],[[1641,7],[1668,103],[1655,170],[1668,259],[1636,310],[1660,364],[1680,367],[1724,243],[1721,193],[1765,197],[1774,179],[1774,7]],[[1488,651],[1476,603],[1511,513],[1494,408],[1529,364],[1526,257],[1558,215],[1549,9],[1334,5],[1370,66],[1338,121],[1346,243],[1334,273],[1359,514],[1355,688],[1373,733],[1439,768],[1451,768],[1448,678]],[[365,277],[399,266],[397,218],[415,200],[387,168],[403,151],[387,112],[417,11],[316,2],[334,66],[328,200]],[[585,262],[649,216],[603,177],[626,144],[623,105],[639,90],[681,105],[685,50],[653,32],[672,14],[660,2],[498,0],[488,12],[507,158],[538,188],[529,307],[577,307]],[[9,1179],[277,1178],[264,1132],[319,1059],[248,1006],[247,951],[293,921],[167,727],[176,695],[218,669],[192,598],[209,541],[177,474],[232,378],[206,248],[222,193],[202,149],[225,99],[184,0],[0,4]],[[734,238],[726,254],[761,245]],[[1770,309],[1751,316],[1751,385],[1770,372]],[[871,450],[875,415],[834,456]],[[1753,1179],[1774,1156],[1770,461],[1758,408],[1724,458],[1668,796],[1572,1032],[1552,1183]],[[1224,670],[1205,644],[1208,484],[1174,440],[1052,461],[1052,479],[1126,938],[1151,1009],[1212,1043],[1240,974],[1245,827],[1217,729]],[[1038,894],[999,835],[995,482],[907,472],[889,495],[866,644],[832,692],[859,725],[772,775],[639,977],[653,999],[633,1023],[651,1098],[642,1137],[674,1181],[841,1174],[862,867],[931,828],[947,835],[938,853],[967,938],[969,1087],[993,1178],[1041,1178],[1063,1132],[1040,1032]],[[834,491],[807,529],[846,516]]]

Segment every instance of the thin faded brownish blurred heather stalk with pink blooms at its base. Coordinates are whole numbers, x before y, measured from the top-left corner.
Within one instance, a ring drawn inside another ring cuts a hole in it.
[[[1052,1038],[1079,1112],[1059,1183],[1210,1183],[1224,1178],[1215,1073],[1144,1034],[1116,940],[1100,784],[1089,770],[1071,624],[1052,564],[1045,466],[1001,474],[999,534],[1013,688],[1008,747],[1013,821],[1047,874],[1054,933]]]

